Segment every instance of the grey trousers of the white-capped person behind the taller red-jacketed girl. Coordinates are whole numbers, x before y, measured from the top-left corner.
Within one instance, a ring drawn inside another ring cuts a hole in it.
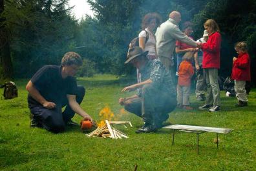
[[[195,90],[196,97],[204,96],[206,91],[207,91],[206,74],[204,70],[200,68],[200,70],[197,71],[197,85]]]

